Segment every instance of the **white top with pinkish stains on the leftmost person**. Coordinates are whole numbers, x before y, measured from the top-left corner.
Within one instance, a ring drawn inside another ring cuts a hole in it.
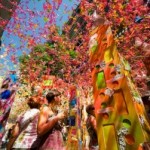
[[[21,133],[16,139],[13,148],[28,149],[38,146],[38,143],[40,142],[40,139],[38,139],[37,136],[39,112],[38,109],[31,109],[18,118],[17,122],[19,122]]]

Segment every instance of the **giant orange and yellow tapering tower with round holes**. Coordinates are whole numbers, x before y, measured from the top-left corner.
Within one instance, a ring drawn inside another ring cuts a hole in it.
[[[139,150],[150,141],[150,125],[128,62],[117,51],[109,23],[97,15],[89,41],[101,150]]]

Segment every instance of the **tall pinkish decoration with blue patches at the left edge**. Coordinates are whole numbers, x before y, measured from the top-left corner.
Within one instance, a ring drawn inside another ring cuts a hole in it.
[[[2,144],[2,137],[6,132],[6,123],[10,114],[12,104],[15,99],[16,90],[18,87],[17,76],[14,71],[3,80],[0,89],[0,137]]]

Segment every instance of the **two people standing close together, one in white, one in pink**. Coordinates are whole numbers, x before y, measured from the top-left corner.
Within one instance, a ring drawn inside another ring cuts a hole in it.
[[[17,118],[10,131],[7,150],[63,149],[60,123],[67,114],[56,110],[59,95],[57,90],[51,90],[45,97],[36,95],[27,100],[30,109]]]

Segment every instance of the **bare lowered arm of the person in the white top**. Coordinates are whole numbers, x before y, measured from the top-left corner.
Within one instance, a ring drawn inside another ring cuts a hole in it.
[[[17,137],[19,135],[19,131],[20,131],[19,123],[16,123],[16,125],[12,129],[12,134],[11,134],[9,142],[7,144],[7,150],[11,150],[15,140],[17,139]]]

